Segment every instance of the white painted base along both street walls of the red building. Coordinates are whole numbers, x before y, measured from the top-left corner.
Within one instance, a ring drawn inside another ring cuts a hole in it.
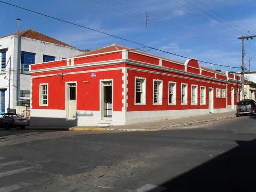
[[[236,105],[232,109],[213,109],[213,113],[236,111]],[[32,109],[30,117],[31,126],[98,126],[109,123],[115,125],[129,125],[140,122],[152,122],[156,120],[174,119],[186,116],[208,114],[209,109],[190,110],[166,110],[166,111],[130,111],[126,115],[122,111],[113,111],[112,120],[101,120],[100,111],[77,111],[76,118],[68,120],[66,110],[56,109]],[[126,119],[125,119],[126,117]]]

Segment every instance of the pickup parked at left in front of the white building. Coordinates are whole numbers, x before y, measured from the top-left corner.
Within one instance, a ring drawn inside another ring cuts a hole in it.
[[[16,113],[4,113],[0,114],[0,127],[9,129],[10,127],[20,127],[25,129],[25,126],[29,125],[29,119],[25,117],[19,117]]]

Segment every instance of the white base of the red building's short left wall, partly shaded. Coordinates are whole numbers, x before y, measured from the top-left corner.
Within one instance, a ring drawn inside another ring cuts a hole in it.
[[[31,126],[97,126],[101,123],[125,125],[124,113],[114,111],[112,120],[101,120],[100,111],[77,111],[75,119],[67,119],[66,110],[31,109]]]

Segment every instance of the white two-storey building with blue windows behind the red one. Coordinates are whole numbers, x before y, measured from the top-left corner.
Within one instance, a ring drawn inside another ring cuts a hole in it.
[[[85,52],[31,29],[20,31],[19,35],[20,63],[17,63],[17,33],[0,37],[0,113],[6,112],[9,105],[9,80],[10,108],[30,106],[29,65],[69,58]]]

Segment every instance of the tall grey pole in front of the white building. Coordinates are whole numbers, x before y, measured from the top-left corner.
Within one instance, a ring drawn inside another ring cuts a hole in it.
[[[19,102],[19,97],[20,97],[20,19],[17,18],[17,36],[18,36],[18,43],[17,43],[17,94],[16,94],[16,99],[17,99],[17,106],[20,105]]]

